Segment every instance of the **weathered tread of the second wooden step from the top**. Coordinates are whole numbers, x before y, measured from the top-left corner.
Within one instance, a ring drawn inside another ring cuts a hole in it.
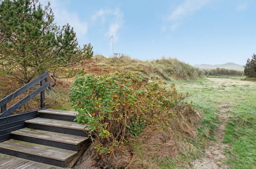
[[[26,123],[34,123],[34,124],[42,124],[42,125],[49,125],[49,126],[56,126],[59,128],[66,128],[66,129],[74,129],[74,130],[88,130],[88,125],[78,124],[76,122],[71,121],[62,121],[62,120],[54,120],[54,119],[46,119],[46,118],[34,118],[25,121]]]

